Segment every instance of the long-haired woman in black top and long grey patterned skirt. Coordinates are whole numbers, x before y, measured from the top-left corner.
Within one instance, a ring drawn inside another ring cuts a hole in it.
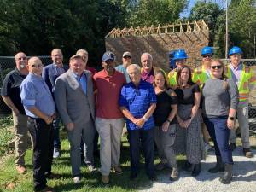
[[[201,159],[204,155],[201,135],[201,122],[198,114],[200,88],[191,79],[191,70],[184,66],[177,71],[177,148],[184,148],[187,156],[185,169],[196,177],[201,172]]]

